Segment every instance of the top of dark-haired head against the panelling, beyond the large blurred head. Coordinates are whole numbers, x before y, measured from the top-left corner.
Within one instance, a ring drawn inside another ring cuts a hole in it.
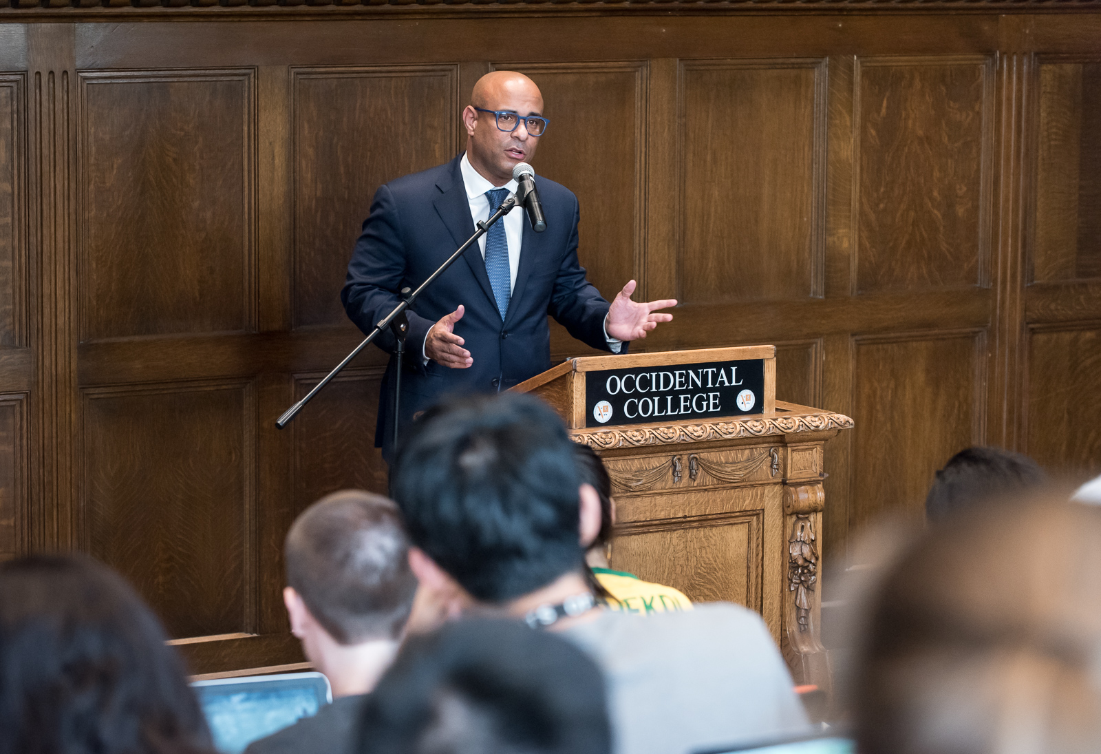
[[[992,499],[1013,497],[1047,481],[1044,470],[1027,455],[1001,448],[968,448],[937,472],[925,498],[930,524]]]

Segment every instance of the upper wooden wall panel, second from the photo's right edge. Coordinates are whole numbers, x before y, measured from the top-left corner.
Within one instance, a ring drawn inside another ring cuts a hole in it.
[[[991,58],[858,60],[857,291],[986,283]]]

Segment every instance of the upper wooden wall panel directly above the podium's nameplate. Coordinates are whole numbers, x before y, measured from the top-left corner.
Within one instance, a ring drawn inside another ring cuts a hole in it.
[[[824,86],[819,61],[682,63],[683,303],[821,295]]]

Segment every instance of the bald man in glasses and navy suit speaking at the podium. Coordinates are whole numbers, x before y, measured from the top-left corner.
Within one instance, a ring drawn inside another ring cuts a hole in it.
[[[482,76],[462,110],[466,152],[447,164],[379,187],[356,241],[340,300],[364,333],[397,305],[399,291],[416,288],[475,233],[510,193],[513,168],[535,157],[546,133],[543,95],[523,74]],[[631,300],[635,282],[609,304],[577,260],[577,197],[535,177],[546,230],[535,233],[519,205],[494,223],[408,310],[402,374],[401,427],[448,394],[505,390],[550,368],[547,314],[595,348],[626,351],[672,314],[666,299]],[[375,340],[393,354],[390,331]],[[382,379],[375,445],[393,459],[391,357]]]

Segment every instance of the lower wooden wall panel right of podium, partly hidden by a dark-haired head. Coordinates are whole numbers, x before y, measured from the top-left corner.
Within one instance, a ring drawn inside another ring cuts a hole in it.
[[[924,520],[934,472],[982,442],[984,333],[854,340],[849,526],[885,510]]]

